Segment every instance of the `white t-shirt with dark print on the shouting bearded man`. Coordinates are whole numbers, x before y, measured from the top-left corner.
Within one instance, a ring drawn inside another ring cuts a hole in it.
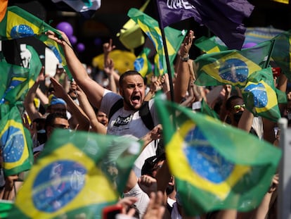
[[[100,111],[103,111],[107,115],[110,113],[110,108],[121,99],[122,96],[115,94],[114,92],[110,92],[105,89],[103,94],[103,99],[101,101]],[[158,125],[159,122],[157,120],[157,113],[155,112],[155,107],[153,106],[154,101],[151,99],[148,102],[148,108],[150,110],[150,114],[153,118],[154,125]],[[131,135],[140,139],[145,136],[149,132],[148,128],[145,127],[143,120],[141,120],[141,116],[139,116],[138,111],[126,111],[124,108],[119,108],[108,121],[108,129],[107,134],[122,136],[122,135]],[[145,147],[141,155],[138,156],[134,163],[134,172],[137,177],[141,176],[141,168],[146,158],[155,155],[155,141],[148,144]]]

